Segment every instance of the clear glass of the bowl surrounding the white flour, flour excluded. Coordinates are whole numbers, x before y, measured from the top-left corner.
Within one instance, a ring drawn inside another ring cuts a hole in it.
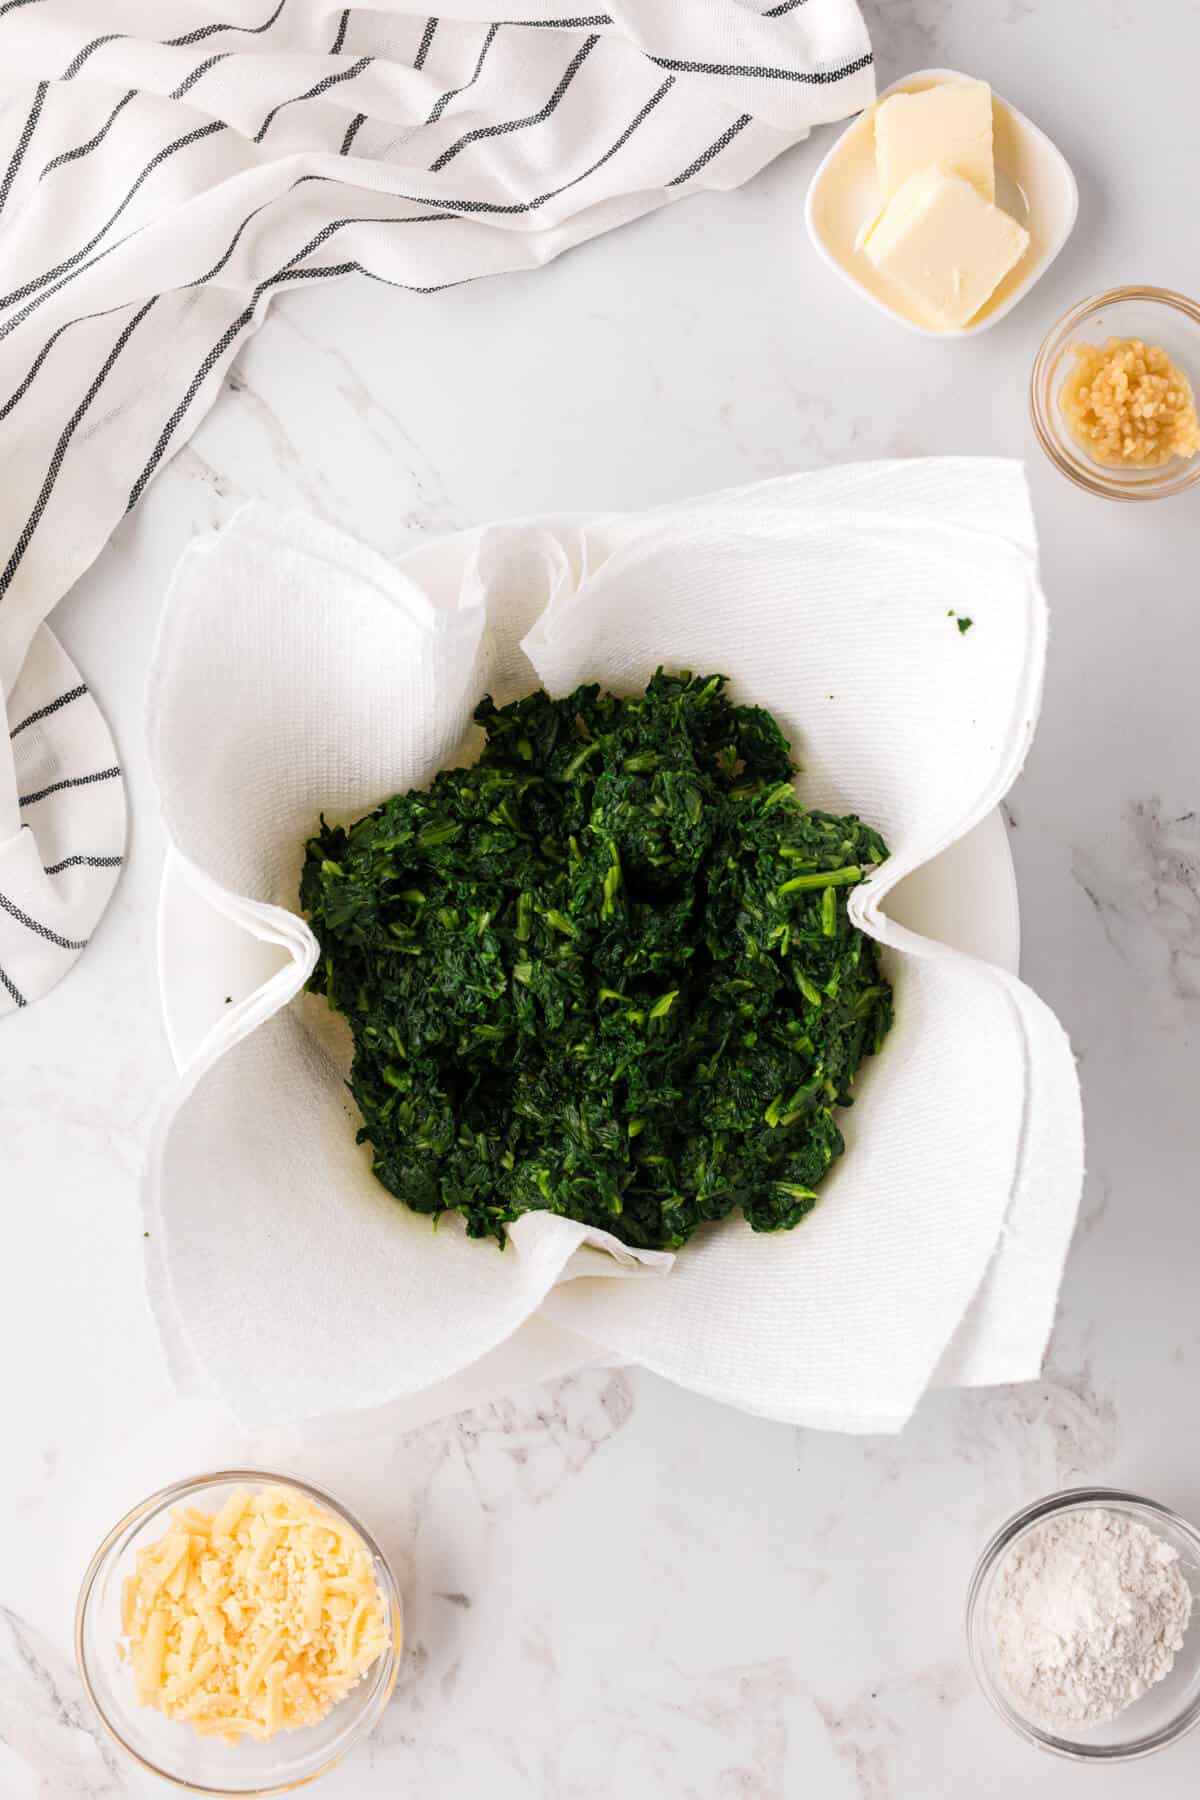
[[[1142,1499],[1139,1494],[1124,1494],[1121,1489],[1070,1487],[1025,1507],[995,1534],[975,1566],[966,1597],[966,1642],[984,1697],[1025,1742],[1070,1757],[1074,1762],[1132,1762],[1135,1757],[1164,1750],[1200,1724],[1200,1604],[1193,1611],[1171,1672],[1115,1719],[1079,1732],[1078,1737],[1056,1733],[1020,1708],[1004,1685],[991,1636],[991,1588],[1013,1544],[1034,1525],[1056,1514],[1097,1510],[1137,1519],[1178,1550],[1184,1579],[1193,1598],[1200,1600],[1200,1532],[1187,1519],[1180,1519],[1169,1507]]]

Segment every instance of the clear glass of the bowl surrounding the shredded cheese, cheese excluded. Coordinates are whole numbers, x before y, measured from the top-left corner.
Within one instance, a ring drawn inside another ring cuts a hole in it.
[[[178,1719],[166,1719],[153,1706],[139,1706],[133,1674],[117,1654],[121,1640],[121,1584],[133,1571],[137,1552],[160,1537],[175,1507],[216,1512],[237,1487],[291,1487],[326,1507],[362,1539],[383,1604],[392,1647],[318,1724],[279,1732],[270,1742],[243,1739],[223,1744],[200,1737]],[[193,1795],[219,1800],[261,1800],[284,1795],[315,1780],[340,1762],[378,1723],[392,1697],[399,1672],[401,1598],[383,1552],[345,1507],[295,1476],[263,1469],[221,1469],[164,1487],[124,1516],[99,1546],[79,1588],[76,1606],[76,1660],[88,1699],[108,1735],[151,1775]]]

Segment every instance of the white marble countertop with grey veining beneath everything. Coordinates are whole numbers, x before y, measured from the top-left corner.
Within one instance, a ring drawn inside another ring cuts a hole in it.
[[[1114,1481],[1200,1516],[1200,500],[1088,499],[1025,423],[1034,347],[1072,301],[1200,283],[1200,13],[867,11],[882,85],[982,74],[1078,171],[1072,243],[995,331],[910,338],[822,268],[801,214],[829,133],[536,275],[290,293],[56,616],[113,722],[133,830],[79,968],[0,1028],[4,1800],[148,1791],[85,1708],[74,1589],[124,1503],[232,1458],[360,1505],[405,1586],[398,1696],[327,1800],[1195,1793],[1200,1735],[1105,1775],[1025,1750],[973,1690],[961,1613],[984,1535],[1047,1489]],[[506,513],[925,452],[1029,455],[1054,608],[1009,824],[1024,968],[1074,1035],[1090,1175],[1043,1379],[932,1395],[900,1440],[795,1433],[639,1372],[394,1442],[353,1424],[246,1440],[180,1406],[142,1296],[139,1172],[173,1069],[140,702],[164,581],[218,497],[309,508],[394,551]]]

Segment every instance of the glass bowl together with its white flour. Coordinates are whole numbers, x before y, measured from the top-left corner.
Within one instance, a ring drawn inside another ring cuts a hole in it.
[[[984,1550],[966,1636],[984,1696],[1040,1750],[1124,1762],[1200,1724],[1200,1532],[1168,1507],[1078,1487]]]

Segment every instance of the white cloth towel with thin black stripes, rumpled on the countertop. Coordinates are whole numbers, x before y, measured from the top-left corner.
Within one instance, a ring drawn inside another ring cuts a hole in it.
[[[855,0],[0,0],[0,720],[38,623],[273,293],[534,268],[745,182],[873,92]],[[23,821],[38,839],[67,832],[58,805]],[[29,857],[2,826],[0,893]],[[101,896],[36,918],[79,943]],[[59,950],[18,947],[18,992]]]

